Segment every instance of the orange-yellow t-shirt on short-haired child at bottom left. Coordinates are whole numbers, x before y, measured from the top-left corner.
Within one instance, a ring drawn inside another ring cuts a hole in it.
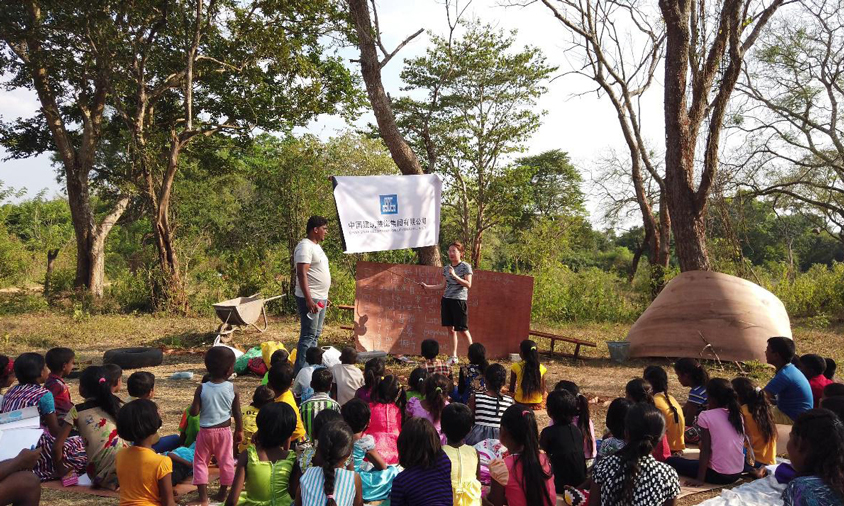
[[[158,494],[158,480],[172,472],[170,457],[150,448],[130,446],[120,450],[117,453],[120,506],[159,506],[163,501]]]

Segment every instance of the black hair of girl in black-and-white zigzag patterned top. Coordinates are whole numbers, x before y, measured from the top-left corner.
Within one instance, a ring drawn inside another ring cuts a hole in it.
[[[615,455],[621,461],[624,481],[611,504],[633,504],[633,492],[641,459],[653,452],[665,434],[665,417],[655,406],[643,402],[633,404],[624,418],[627,444]],[[613,433],[616,436],[615,433]],[[618,436],[616,436],[618,437]]]

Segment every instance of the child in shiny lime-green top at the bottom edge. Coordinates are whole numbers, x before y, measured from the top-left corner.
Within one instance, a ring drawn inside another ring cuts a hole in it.
[[[296,453],[290,450],[296,413],[283,402],[271,402],[258,411],[255,422],[254,443],[237,459],[226,506],[289,505],[296,497],[300,475]]]

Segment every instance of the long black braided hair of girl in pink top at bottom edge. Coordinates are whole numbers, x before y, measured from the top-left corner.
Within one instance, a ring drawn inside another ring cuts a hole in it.
[[[522,479],[519,486],[525,492],[527,504],[537,506],[556,504],[556,497],[550,497],[548,487],[545,486],[546,480],[553,474],[545,470],[539,459],[539,429],[536,427],[533,411],[519,404],[510,406],[501,416],[501,429],[506,429],[510,438],[523,446],[522,451],[516,455],[514,467],[519,463],[522,465]],[[510,479],[517,477],[518,475],[511,475]]]

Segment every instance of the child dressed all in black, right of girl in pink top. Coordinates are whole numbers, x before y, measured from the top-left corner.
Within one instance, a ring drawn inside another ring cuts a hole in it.
[[[577,399],[567,390],[554,390],[548,394],[548,416],[554,423],[542,430],[539,447],[551,459],[554,486],[560,492],[579,487],[586,481],[586,458],[583,434],[573,423]]]

